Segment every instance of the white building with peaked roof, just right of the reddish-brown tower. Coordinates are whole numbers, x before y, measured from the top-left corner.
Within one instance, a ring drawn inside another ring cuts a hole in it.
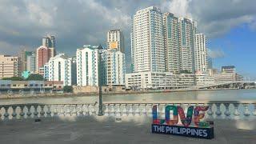
[[[50,58],[48,66],[49,81],[62,81],[64,86],[72,85],[72,58],[58,54]]]

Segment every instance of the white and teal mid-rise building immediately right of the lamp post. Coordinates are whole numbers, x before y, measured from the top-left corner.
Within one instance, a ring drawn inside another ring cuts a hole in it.
[[[106,85],[124,86],[126,74],[125,54],[117,50],[104,50],[102,56],[106,66]]]

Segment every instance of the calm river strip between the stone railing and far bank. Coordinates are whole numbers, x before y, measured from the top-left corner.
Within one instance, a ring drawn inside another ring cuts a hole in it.
[[[102,95],[103,102],[115,101],[242,101],[256,100],[256,90],[206,90],[206,91],[185,91],[169,93],[149,93],[149,94],[113,94]],[[0,105],[22,104],[22,103],[45,103],[45,104],[64,104],[64,103],[94,103],[98,101],[98,96],[70,96],[56,98],[18,98],[0,99]]]

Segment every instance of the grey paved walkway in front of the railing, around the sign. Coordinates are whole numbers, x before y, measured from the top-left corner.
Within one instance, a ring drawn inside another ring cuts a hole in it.
[[[256,142],[255,120],[216,120],[212,140],[150,133],[150,118],[45,118],[0,122],[0,143],[246,143]]]

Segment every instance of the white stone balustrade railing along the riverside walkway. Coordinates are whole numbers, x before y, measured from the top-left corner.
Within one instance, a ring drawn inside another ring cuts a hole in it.
[[[209,106],[206,118],[256,118],[256,102],[253,101],[173,101],[173,102],[104,102],[105,116],[151,116],[152,106],[158,106],[158,113],[164,116],[167,105],[182,106],[185,110],[189,106]],[[75,116],[83,117],[98,114],[98,103],[81,104],[16,104],[0,105],[0,118],[47,118]]]

